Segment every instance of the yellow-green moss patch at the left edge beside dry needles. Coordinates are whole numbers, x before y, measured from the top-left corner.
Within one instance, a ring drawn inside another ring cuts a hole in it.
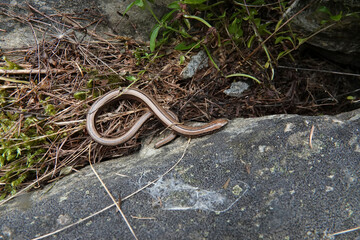
[[[43,160],[43,146],[54,139],[50,136],[54,133],[56,129],[36,117],[24,119],[18,113],[0,113],[0,199],[15,194],[19,185],[35,174],[32,166]]]

